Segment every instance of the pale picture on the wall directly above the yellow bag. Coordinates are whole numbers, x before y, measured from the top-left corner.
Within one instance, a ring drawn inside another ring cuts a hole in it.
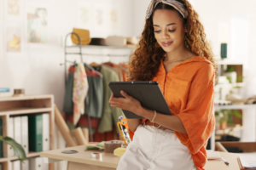
[[[92,18],[92,4],[91,3],[78,3],[78,21],[79,28],[91,30]]]

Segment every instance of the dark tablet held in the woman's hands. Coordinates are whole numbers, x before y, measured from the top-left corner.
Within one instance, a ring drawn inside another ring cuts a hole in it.
[[[116,98],[123,97],[120,91],[124,90],[125,93],[139,100],[144,108],[161,114],[172,115],[158,82],[110,82],[108,86]],[[144,118],[131,111],[123,110],[123,112],[129,119]]]

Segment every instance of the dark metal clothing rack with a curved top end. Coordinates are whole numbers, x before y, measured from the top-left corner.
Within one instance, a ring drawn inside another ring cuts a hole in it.
[[[78,38],[79,40],[79,44],[78,45],[72,45],[72,46],[68,46],[67,45],[67,38],[70,36],[70,35],[74,35]],[[77,33],[75,32],[70,32],[67,34],[67,36],[65,37],[65,46],[64,46],[64,51],[65,51],[65,58],[64,58],[64,64],[61,64],[61,65],[64,65],[64,69],[65,69],[65,86],[67,84],[67,63],[73,63],[74,65],[76,64],[76,61],[70,61],[70,60],[67,60],[67,55],[80,55],[80,61],[81,63],[84,63],[83,61],[83,55],[87,55],[87,56],[108,56],[108,57],[127,57],[127,56],[130,56],[130,54],[88,54],[88,53],[83,53],[82,52],[82,47],[83,48],[99,48],[99,46],[96,46],[96,45],[82,45],[81,44],[81,40],[80,40],[80,37]],[[113,49],[122,49],[122,48],[125,48],[125,47],[115,47],[115,46],[100,46],[101,48],[113,48]],[[67,48],[79,48],[79,53],[70,53],[70,52],[67,52]],[[126,48],[127,49],[127,48]],[[129,49],[129,48],[128,48]],[[130,48],[131,49],[131,53],[133,52],[133,48]],[[88,98],[85,99],[85,102],[88,104]],[[93,137],[92,137],[92,130],[91,130],[91,123],[90,123],[90,115],[87,114],[87,119],[88,119],[88,127],[89,127],[89,135],[90,135],[90,142],[93,142]]]

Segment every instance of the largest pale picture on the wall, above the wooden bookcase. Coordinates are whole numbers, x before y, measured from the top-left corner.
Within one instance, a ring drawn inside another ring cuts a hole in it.
[[[48,8],[44,6],[26,6],[26,42],[48,42]]]

